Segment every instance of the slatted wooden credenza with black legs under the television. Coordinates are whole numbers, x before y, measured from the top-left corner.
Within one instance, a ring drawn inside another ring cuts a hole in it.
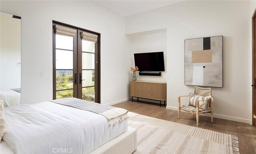
[[[156,81],[131,81],[130,82],[130,94],[133,97],[152,99],[166,102],[166,82]]]

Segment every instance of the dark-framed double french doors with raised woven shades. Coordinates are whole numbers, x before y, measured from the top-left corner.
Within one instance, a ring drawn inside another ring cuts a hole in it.
[[[100,103],[100,34],[53,23],[53,99]]]

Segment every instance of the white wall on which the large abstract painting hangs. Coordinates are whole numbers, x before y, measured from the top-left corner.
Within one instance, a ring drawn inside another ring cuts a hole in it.
[[[126,17],[126,34],[167,28],[167,109],[184,85],[184,39],[223,36],[223,88],[212,88],[214,116],[251,122],[250,1],[184,1]],[[186,104],[186,102],[184,102]]]

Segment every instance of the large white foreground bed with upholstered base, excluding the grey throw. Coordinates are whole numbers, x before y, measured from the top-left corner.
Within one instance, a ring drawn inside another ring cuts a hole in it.
[[[4,112],[6,133],[0,142],[1,154],[136,150],[136,130],[128,129],[127,118],[110,124],[100,114],[50,101],[7,107]]]

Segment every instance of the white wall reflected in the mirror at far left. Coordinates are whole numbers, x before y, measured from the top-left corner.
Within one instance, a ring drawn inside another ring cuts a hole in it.
[[[1,12],[0,89],[20,88],[20,19]]]

